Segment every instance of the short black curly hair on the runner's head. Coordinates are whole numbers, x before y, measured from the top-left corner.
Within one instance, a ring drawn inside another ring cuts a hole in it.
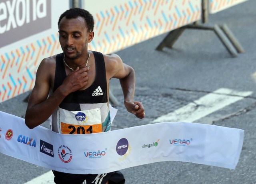
[[[63,17],[66,17],[67,19],[72,19],[77,18],[78,16],[84,18],[87,24],[88,32],[92,32],[94,28],[93,16],[92,14],[90,14],[90,12],[81,8],[70,8],[69,10],[66,10],[63,14],[60,15],[58,26],[60,25],[60,20],[62,20]]]

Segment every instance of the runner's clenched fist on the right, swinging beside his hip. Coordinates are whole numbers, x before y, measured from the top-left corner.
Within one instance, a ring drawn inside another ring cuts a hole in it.
[[[124,102],[124,106],[126,107],[127,111],[134,114],[137,118],[144,118],[145,111],[142,102],[130,101]]]

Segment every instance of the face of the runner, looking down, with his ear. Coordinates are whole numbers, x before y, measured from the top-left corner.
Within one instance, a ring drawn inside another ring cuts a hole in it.
[[[62,18],[59,33],[60,46],[67,58],[76,59],[87,54],[88,42],[92,41],[93,32],[88,33],[84,18]]]

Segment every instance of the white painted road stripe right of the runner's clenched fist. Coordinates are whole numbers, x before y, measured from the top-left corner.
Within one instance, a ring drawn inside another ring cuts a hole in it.
[[[157,122],[195,122],[200,118],[224,108],[234,102],[242,100],[252,94],[251,91],[239,92],[228,88],[220,88],[210,94],[191,102],[182,108],[156,118],[151,123]]]

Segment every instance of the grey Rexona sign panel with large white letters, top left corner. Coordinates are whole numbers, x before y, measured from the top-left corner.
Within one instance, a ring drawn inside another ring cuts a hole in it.
[[[0,48],[51,28],[51,0],[1,0]]]

